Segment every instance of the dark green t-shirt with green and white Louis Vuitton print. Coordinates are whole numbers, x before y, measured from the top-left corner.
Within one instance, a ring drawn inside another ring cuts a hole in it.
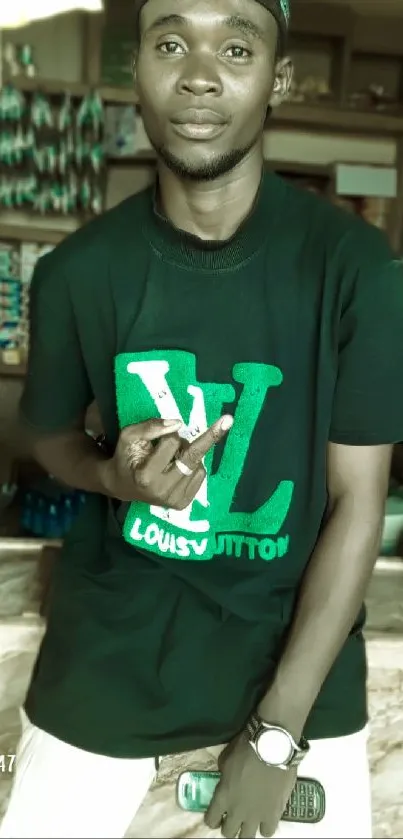
[[[55,576],[31,720],[94,752],[229,740],[267,689],[326,508],[326,447],[401,440],[403,272],[378,230],[273,175],[206,243],[130,198],[41,260],[22,413],[235,422],[183,512],[91,496]],[[366,722],[363,615],[309,717]]]

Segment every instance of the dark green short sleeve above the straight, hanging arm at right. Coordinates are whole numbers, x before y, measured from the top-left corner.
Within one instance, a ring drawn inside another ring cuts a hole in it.
[[[329,439],[394,443],[403,439],[402,261],[374,230],[353,249],[348,271]]]

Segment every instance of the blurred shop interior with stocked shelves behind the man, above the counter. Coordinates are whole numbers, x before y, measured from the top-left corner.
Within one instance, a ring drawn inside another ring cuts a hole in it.
[[[267,124],[266,166],[382,228],[402,254],[403,0],[293,0],[292,12],[295,78]],[[132,0],[2,4],[0,535],[62,538],[83,503],[46,476],[44,505],[44,476],[24,460],[16,406],[38,258],[155,176],[132,58]],[[101,431],[96,406],[88,426]],[[383,553],[397,555],[400,447],[391,482]]]

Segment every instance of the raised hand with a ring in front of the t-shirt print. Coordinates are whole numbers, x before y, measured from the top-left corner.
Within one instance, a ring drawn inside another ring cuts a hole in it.
[[[184,510],[205,479],[203,458],[232,424],[233,418],[226,414],[190,445],[178,435],[179,421],[153,419],[127,426],[120,433],[114,456],[103,466],[106,493],[120,501]],[[176,460],[185,471],[191,470],[189,476]]]

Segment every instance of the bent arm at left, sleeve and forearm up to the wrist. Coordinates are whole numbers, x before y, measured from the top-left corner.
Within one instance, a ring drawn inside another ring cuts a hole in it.
[[[41,259],[31,284],[21,433],[49,474],[76,489],[107,494],[107,458],[85,433],[84,417],[94,397],[61,262],[58,253]]]

